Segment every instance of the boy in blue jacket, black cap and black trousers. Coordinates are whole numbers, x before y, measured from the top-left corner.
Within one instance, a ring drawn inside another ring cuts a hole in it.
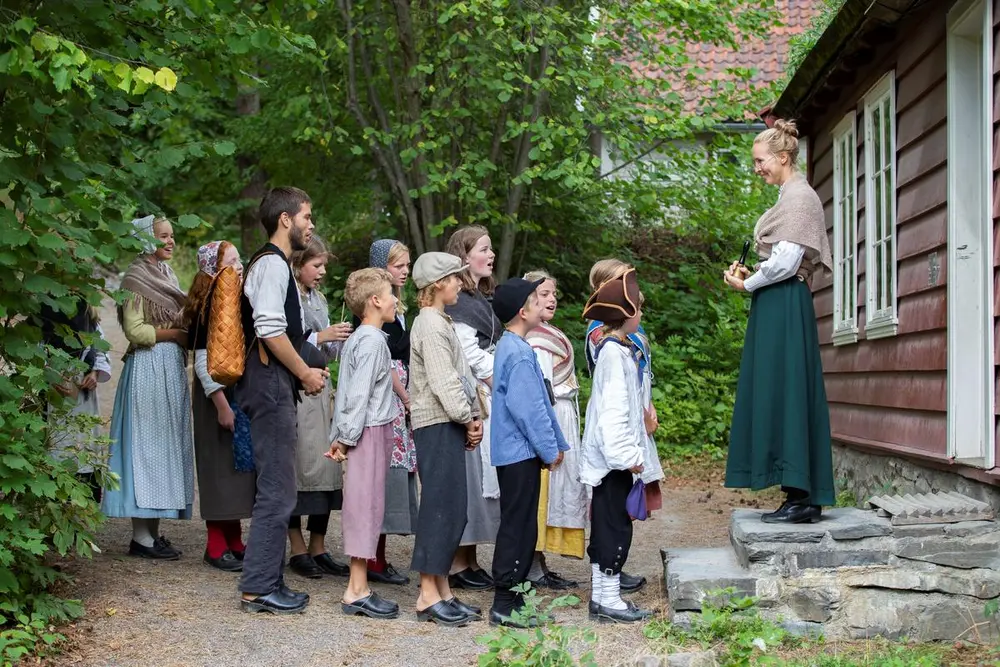
[[[490,623],[525,627],[511,618],[523,606],[511,590],[528,578],[538,539],[542,467],[557,466],[569,449],[549,400],[542,369],[524,339],[542,323],[535,290],[545,279],[512,278],[497,288],[493,311],[506,331],[497,344],[493,373],[491,460],[500,483],[500,528],[493,552]],[[530,622],[530,621],[529,621]]]

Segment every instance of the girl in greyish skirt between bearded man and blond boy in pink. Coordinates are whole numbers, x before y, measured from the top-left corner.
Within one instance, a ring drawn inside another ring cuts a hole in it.
[[[305,250],[292,256],[292,270],[302,298],[302,318],[310,332],[309,342],[319,348],[327,360],[332,360],[351,334],[349,322],[330,325],[326,298],[319,286],[326,275],[330,258],[326,246],[314,236]],[[298,407],[298,444],[295,466],[298,480],[298,503],[288,526],[293,572],[310,579],[324,574],[346,577],[350,568],[334,560],[326,549],[326,534],[330,512],[343,505],[343,470],[339,463],[326,458],[330,450],[330,424],[333,420],[332,385],[329,381],[322,393],[306,396],[300,392]],[[302,515],[308,515],[309,545],[302,537]]]

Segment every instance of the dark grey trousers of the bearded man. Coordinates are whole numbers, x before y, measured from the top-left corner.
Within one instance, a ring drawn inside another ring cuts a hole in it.
[[[239,589],[266,595],[284,582],[288,520],[297,500],[294,380],[275,360],[264,366],[253,353],[236,386],[236,399],[250,418],[257,472],[257,495]]]

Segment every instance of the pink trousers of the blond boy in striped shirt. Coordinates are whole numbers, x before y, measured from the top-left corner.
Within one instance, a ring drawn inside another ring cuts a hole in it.
[[[358,444],[347,451],[340,523],[344,554],[351,558],[375,558],[385,514],[385,476],[392,443],[392,423],[368,426]]]

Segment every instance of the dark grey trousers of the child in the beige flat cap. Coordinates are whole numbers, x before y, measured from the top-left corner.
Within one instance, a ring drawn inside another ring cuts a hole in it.
[[[415,429],[413,440],[421,501],[410,569],[447,576],[468,521],[465,427],[433,424]]]

